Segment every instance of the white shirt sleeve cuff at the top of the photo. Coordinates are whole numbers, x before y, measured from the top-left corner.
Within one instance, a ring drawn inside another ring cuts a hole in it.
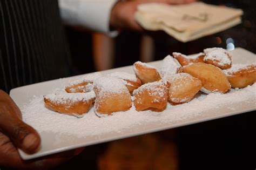
[[[117,0],[58,0],[60,15],[65,24],[84,26],[88,29],[115,36],[110,31],[110,15]]]

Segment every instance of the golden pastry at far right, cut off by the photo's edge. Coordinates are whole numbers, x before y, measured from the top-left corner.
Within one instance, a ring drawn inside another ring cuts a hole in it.
[[[242,88],[256,81],[256,65],[232,65],[231,69],[224,71],[233,88]]]

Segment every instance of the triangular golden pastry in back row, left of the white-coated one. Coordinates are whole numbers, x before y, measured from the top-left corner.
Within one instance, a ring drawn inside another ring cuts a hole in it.
[[[134,63],[133,70],[136,76],[142,81],[142,84],[158,81],[161,79],[157,69],[146,63]]]

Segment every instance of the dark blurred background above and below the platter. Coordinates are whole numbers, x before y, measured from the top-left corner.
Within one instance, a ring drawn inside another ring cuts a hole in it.
[[[97,32],[66,27],[73,74],[151,62],[172,52],[186,55],[207,47],[256,53],[256,3],[204,1],[244,11],[242,23],[188,43],[162,31],[142,35],[122,31],[110,38]],[[254,112],[86,147],[82,154],[56,169],[255,169]]]

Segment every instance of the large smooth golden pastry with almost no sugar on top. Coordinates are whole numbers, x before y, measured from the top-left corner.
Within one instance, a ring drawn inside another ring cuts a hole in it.
[[[205,93],[225,93],[231,88],[225,73],[211,64],[194,63],[186,65],[183,67],[183,72],[201,80],[203,84],[201,91]]]

